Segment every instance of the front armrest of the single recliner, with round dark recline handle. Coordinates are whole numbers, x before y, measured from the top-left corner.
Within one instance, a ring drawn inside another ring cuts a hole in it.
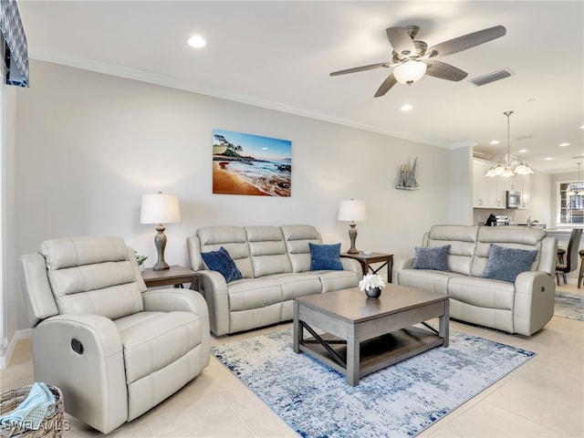
[[[102,433],[127,421],[123,348],[113,321],[99,315],[57,315],[36,326],[32,343],[35,380],[63,391],[66,412]]]

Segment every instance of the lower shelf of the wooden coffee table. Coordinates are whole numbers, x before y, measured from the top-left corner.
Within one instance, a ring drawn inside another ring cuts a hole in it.
[[[339,358],[345,364],[347,363],[347,345],[343,339],[329,333],[318,336],[327,343],[328,348],[333,349],[339,355]],[[433,332],[412,326],[392,331],[379,338],[368,339],[360,343],[359,377],[389,367],[401,362],[401,360],[409,359],[428,349],[440,347],[443,344],[444,339]],[[333,370],[337,370],[347,376],[346,367],[339,363],[321,345],[318,339],[304,339],[298,347],[300,351],[306,352],[309,356],[320,360]]]

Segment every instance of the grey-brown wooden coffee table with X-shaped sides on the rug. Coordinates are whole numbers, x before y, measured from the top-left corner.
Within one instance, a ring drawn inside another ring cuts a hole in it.
[[[438,330],[424,322],[432,318],[439,318]],[[447,296],[413,287],[390,284],[379,299],[367,298],[358,287],[297,297],[294,352],[306,352],[356,386],[371,372],[448,347],[448,320]],[[411,327],[418,323],[425,328]]]

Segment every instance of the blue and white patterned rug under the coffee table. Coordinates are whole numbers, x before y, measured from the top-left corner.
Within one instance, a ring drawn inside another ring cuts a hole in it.
[[[292,349],[292,328],[212,353],[300,436],[414,436],[535,356],[451,330],[435,348],[360,379]]]

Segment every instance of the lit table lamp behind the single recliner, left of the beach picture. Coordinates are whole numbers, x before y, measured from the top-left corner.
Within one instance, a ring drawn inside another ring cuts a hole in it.
[[[154,245],[158,252],[158,261],[152,266],[154,271],[168,269],[168,263],[164,261],[164,248],[166,247],[166,235],[163,224],[181,222],[181,210],[179,209],[179,198],[175,194],[144,194],[142,196],[142,208],[140,215],[141,224],[158,224],[154,237]]]

